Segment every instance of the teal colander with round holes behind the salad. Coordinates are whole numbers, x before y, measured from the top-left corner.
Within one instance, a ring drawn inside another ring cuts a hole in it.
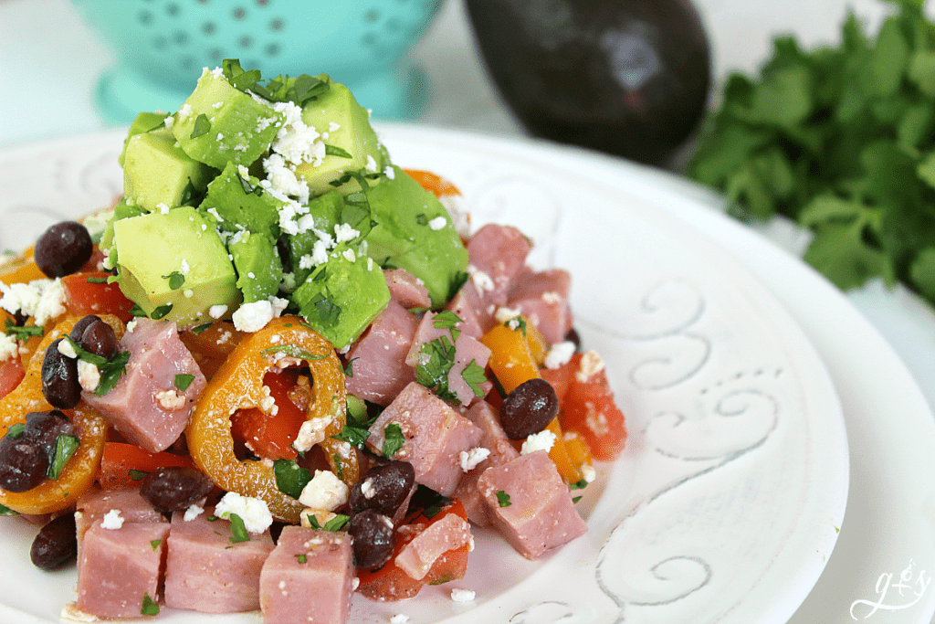
[[[117,62],[97,84],[110,123],[176,110],[203,67],[238,58],[264,78],[329,74],[374,117],[424,107],[409,57],[442,0],[73,0]]]

